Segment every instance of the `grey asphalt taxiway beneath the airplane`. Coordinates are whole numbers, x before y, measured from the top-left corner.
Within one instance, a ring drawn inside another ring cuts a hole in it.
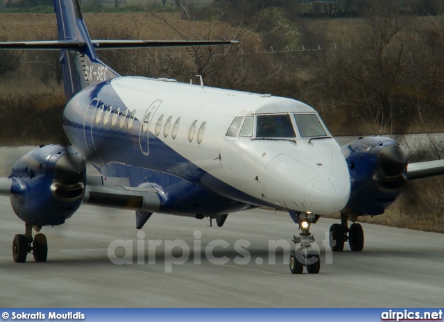
[[[2,176],[24,149],[0,149]],[[325,233],[336,221],[321,218],[311,228],[321,272],[293,276],[286,251],[268,247],[275,240],[285,246],[298,233],[283,212],[230,214],[223,228],[154,214],[137,235],[133,212],[82,206],[64,225],[42,229],[47,262],[28,255],[16,264],[12,239],[24,223],[8,198],[0,197],[0,209],[0,307],[443,306],[444,235],[432,232],[364,223],[364,251],[345,245],[330,253]],[[123,247],[128,241],[132,251]],[[171,265],[185,248],[189,259]],[[119,257],[132,264],[115,264]]]

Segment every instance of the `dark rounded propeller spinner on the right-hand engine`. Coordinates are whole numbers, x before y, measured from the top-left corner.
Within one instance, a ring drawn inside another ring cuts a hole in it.
[[[377,155],[379,172],[386,177],[399,176],[407,168],[407,153],[399,145],[389,145]]]

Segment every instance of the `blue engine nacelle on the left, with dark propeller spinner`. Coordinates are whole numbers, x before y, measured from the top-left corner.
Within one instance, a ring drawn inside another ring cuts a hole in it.
[[[15,162],[9,178],[17,217],[35,226],[56,226],[83,201],[86,164],[69,146],[40,146]]]

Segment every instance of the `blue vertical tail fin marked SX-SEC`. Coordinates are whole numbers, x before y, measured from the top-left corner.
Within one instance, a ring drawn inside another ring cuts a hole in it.
[[[66,100],[69,101],[89,85],[119,77],[119,74],[97,58],[83,20],[79,0],[54,0],[54,8],[59,41],[82,44],[76,49],[61,50],[60,65]]]

